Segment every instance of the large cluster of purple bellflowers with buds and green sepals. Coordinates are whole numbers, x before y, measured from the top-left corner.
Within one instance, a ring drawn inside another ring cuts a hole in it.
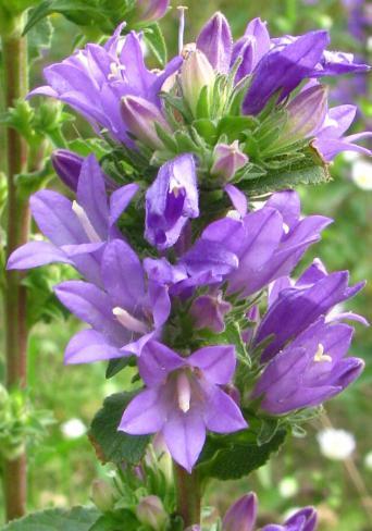
[[[63,262],[83,275],[55,286],[89,325],[70,341],[65,362],[136,360],[144,387],[119,430],[162,434],[191,472],[209,432],[249,430],[250,415],[285,422],[362,370],[347,356],[354,329],[344,321],[364,319],[332,310],[363,284],[349,287],[346,271],[327,273],[318,260],[289,276],[332,220],[301,217],[294,190],[261,202],[252,193],[249,203],[247,193],[318,151],[325,160],[368,152],[355,144],[365,134],[343,136],[354,108],[328,109],[319,82],[368,67],[327,51],[325,32],[270,38],[259,18],[234,42],[216,13],[195,46],[154,72],[141,36],[122,38],[121,29],[48,66],[48,86],[32,92],[72,106],[110,149],[104,168],[94,155],[53,155],[76,199],[34,194],[49,242],[29,242],[8,267]],[[283,188],[275,180],[272,187]],[[253,513],[240,527],[234,518],[230,511],[223,529],[252,529]],[[314,519],[305,509],[264,529],[310,531]]]

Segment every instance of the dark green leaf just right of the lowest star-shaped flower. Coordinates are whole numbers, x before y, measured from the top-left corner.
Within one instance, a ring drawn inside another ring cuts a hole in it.
[[[237,480],[262,467],[277,452],[287,431],[277,429],[270,441],[259,444],[261,422],[249,421],[247,430],[230,435],[209,435],[197,466],[204,478]]]

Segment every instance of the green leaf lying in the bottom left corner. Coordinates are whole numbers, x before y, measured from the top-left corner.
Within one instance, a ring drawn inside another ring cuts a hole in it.
[[[3,531],[89,531],[99,518],[96,508],[47,509],[14,520]]]

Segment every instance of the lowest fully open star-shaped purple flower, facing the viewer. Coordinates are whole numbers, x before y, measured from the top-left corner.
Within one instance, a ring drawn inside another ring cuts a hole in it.
[[[231,433],[247,428],[235,402],[221,390],[235,371],[234,347],[200,348],[182,358],[149,342],[138,360],[146,390],[124,411],[119,430],[164,436],[173,459],[188,472],[197,461],[206,431]]]

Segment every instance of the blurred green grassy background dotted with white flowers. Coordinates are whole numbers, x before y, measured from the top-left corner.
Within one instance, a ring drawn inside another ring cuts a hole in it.
[[[371,63],[372,3],[356,0],[248,0],[179,2],[188,7],[185,41],[193,41],[203,22],[216,10],[228,17],[234,36],[244,33],[256,16],[266,20],[272,36],[300,34],[326,28],[332,49],[356,53]],[[170,52],[176,52],[177,2],[162,21]],[[32,86],[41,82],[45,64],[60,61],[72,52],[76,26],[53,16],[53,45],[33,66]],[[368,55],[370,54],[370,58]],[[369,77],[369,79],[368,79]],[[335,104],[358,104],[355,132],[371,128],[371,76],[336,78],[332,88]],[[71,137],[90,135],[76,120],[67,125]],[[328,270],[349,269],[352,283],[368,280],[365,289],[351,301],[352,310],[372,321],[372,165],[354,153],[338,157],[332,166],[333,181],[326,185],[300,189],[305,213],[321,213],[335,222],[323,239],[307,254],[301,268],[315,256]],[[58,280],[60,270],[48,268],[33,272],[34,284],[48,275]],[[53,276],[54,275],[54,276]],[[123,386],[123,372],[103,379],[100,363],[64,367],[63,349],[77,323],[45,302],[45,322],[34,326],[29,345],[29,390],[36,407],[53,412],[55,422],[42,444],[29,450],[29,509],[71,506],[86,503],[95,478],[109,473],[100,466],[86,436],[87,427],[106,396]],[[35,308],[35,312],[39,311]],[[48,313],[49,312],[49,313]],[[48,317],[49,316],[49,317]],[[49,321],[49,322],[48,322]],[[249,480],[228,482],[221,490],[211,483],[207,502],[222,511],[239,494],[255,490],[260,498],[260,523],[280,521],[294,507],[315,505],[322,530],[372,530],[372,333],[357,324],[352,355],[365,359],[367,368],[351,388],[327,405],[327,418],[308,427],[302,437],[287,442],[270,465]],[[0,358],[0,376],[3,365]],[[0,380],[1,381],[1,380]],[[334,430],[337,430],[336,432]],[[1,494],[0,494],[1,496]],[[0,498],[1,507],[1,498]],[[0,515],[1,518],[1,515]]]

